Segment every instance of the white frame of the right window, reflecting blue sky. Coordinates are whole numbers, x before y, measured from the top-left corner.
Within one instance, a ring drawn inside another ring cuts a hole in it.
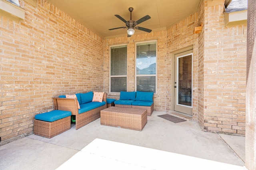
[[[137,75],[137,44],[142,44],[142,43],[151,43],[151,42],[156,42],[156,74],[138,74]],[[156,78],[156,92],[154,94],[157,94],[157,40],[150,40],[150,41],[139,41],[135,43],[135,91],[137,91],[137,77],[146,77],[146,76],[154,76]]]

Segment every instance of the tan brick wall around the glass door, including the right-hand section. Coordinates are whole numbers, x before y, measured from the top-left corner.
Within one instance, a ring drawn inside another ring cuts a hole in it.
[[[224,5],[207,7],[207,0],[202,0],[198,12],[167,30],[167,89],[174,86],[172,54],[193,45],[193,120],[206,131],[243,135],[246,25],[224,27],[223,9]],[[202,32],[193,35],[201,24]],[[170,112],[174,94],[167,92]]]

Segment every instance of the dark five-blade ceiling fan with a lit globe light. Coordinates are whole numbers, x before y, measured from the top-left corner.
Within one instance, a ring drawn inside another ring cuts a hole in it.
[[[129,11],[130,11],[130,16],[131,17],[130,17],[130,20],[128,20],[128,21],[124,20],[124,18],[122,18],[120,15],[115,15],[118,19],[120,19],[121,21],[123,21],[126,24],[125,27],[111,28],[111,29],[108,29],[108,30],[120,29],[120,28],[123,28],[123,29],[128,28],[128,30],[127,30],[128,37],[131,37],[134,34],[134,32],[135,32],[134,29],[139,29],[141,31],[146,31],[148,33],[150,33],[152,31],[151,29],[144,28],[144,27],[138,27],[137,26],[138,24],[140,24],[140,23],[142,23],[142,22],[144,22],[146,20],[149,20],[151,18],[149,15],[146,15],[146,16],[140,18],[138,21],[134,21],[134,20],[132,20],[133,8],[130,7]]]

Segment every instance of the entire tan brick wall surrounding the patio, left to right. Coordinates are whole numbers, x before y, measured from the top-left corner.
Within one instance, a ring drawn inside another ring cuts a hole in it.
[[[245,133],[246,25],[224,27],[223,5],[207,7],[202,0],[198,12],[166,31],[102,39],[46,0],[38,0],[37,8],[20,4],[25,20],[0,16],[1,141],[32,133],[34,116],[53,109],[53,96],[109,92],[109,45],[127,43],[133,91],[135,42],[154,39],[155,110],[173,110],[173,53],[191,46],[193,120],[206,131]],[[193,34],[201,23],[202,32]]]

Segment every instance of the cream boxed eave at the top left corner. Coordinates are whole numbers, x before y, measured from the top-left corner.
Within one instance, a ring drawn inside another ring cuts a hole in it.
[[[11,3],[7,0],[0,0],[0,16],[6,16],[15,21],[25,19],[25,10],[18,4]]]

